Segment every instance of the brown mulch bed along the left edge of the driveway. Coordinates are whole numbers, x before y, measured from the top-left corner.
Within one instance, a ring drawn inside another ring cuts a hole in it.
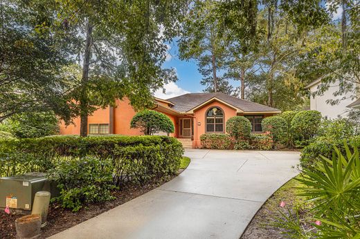
[[[63,209],[57,204],[51,204],[51,207],[48,211],[48,224],[42,229],[42,238],[47,238],[48,236],[51,236],[60,231],[64,231],[65,229],[73,227],[76,224],[98,216],[100,213],[108,211],[109,209],[113,209],[120,204],[143,195],[144,193],[159,187],[163,183],[165,183],[165,181],[146,184],[143,187],[134,185],[123,187],[122,191],[113,191],[113,195],[116,198],[115,200],[90,204],[87,205],[87,207],[83,207],[76,213],[73,213],[68,209]],[[6,214],[3,210],[0,211],[1,239],[15,238],[15,219],[24,216],[24,214],[21,214],[19,211],[14,211],[12,209],[10,209],[10,211],[11,213],[9,215]]]

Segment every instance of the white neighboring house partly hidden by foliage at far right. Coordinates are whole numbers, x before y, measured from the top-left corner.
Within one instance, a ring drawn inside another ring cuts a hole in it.
[[[305,88],[310,90],[310,93],[316,93],[321,86],[321,77],[314,82],[307,85]],[[321,112],[323,117],[328,119],[335,119],[339,116],[346,117],[350,108],[360,107],[360,100],[352,99],[352,93],[335,96],[334,93],[339,90],[339,81],[330,84],[330,87],[325,90],[322,95],[310,96],[310,109]],[[345,96],[345,99],[342,99]],[[341,99],[339,104],[331,105],[326,102],[330,99]]]

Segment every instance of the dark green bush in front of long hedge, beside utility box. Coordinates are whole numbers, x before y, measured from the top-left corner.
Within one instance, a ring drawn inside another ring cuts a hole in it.
[[[48,171],[60,189],[60,196],[54,200],[73,211],[79,211],[83,204],[111,200],[113,171],[111,159],[80,157],[59,162]]]

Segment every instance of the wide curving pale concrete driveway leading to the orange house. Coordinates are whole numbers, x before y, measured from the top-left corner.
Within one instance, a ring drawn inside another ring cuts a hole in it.
[[[170,182],[52,238],[240,238],[299,153],[188,149]],[[294,168],[295,167],[295,168]]]

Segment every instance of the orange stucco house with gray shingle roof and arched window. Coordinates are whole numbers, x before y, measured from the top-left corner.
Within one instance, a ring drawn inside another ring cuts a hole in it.
[[[130,121],[135,115],[129,100],[118,100],[116,107],[107,107],[95,111],[89,116],[89,134],[141,135],[141,131],[130,128]],[[261,133],[264,117],[281,113],[276,108],[239,99],[224,93],[189,93],[170,99],[154,99],[155,111],[168,115],[175,126],[170,136],[177,137],[184,146],[201,147],[200,135],[204,133],[225,133],[226,121],[235,115],[244,115],[254,133]],[[75,125],[60,125],[60,134],[79,135],[80,119]]]

